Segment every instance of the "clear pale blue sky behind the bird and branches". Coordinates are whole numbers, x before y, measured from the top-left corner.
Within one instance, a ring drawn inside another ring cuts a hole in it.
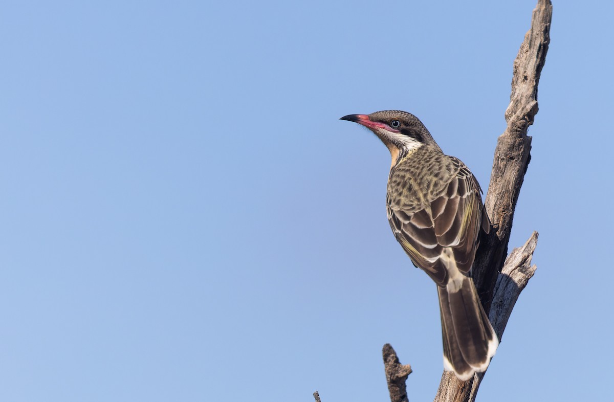
[[[435,285],[386,220],[403,109],[488,186],[535,0],[5,1],[0,400],[431,400]],[[612,2],[554,1],[482,401],[611,398]]]

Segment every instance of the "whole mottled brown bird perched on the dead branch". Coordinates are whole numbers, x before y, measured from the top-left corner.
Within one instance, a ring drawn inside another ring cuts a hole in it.
[[[470,277],[480,233],[491,230],[478,180],[413,114],[383,110],[340,120],[367,127],[391,153],[388,221],[413,264],[437,284],[444,369],[462,381],[486,371],[499,338]]]

